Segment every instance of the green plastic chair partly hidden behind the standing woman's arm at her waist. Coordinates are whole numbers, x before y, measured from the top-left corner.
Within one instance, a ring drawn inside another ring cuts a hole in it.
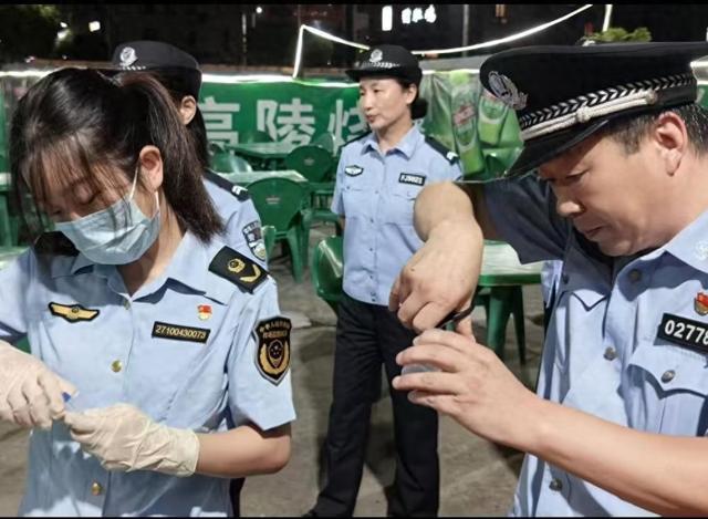
[[[334,310],[334,313],[337,311],[343,293],[343,243],[341,236],[330,236],[320,241],[312,252],[310,268],[315,293]]]

